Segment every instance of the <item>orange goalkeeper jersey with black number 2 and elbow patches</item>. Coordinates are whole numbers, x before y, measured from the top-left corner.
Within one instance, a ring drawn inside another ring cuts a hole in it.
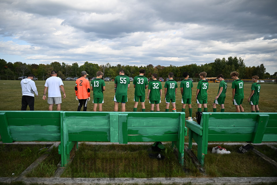
[[[76,80],[75,94],[78,99],[88,99],[88,97],[90,97],[89,81],[84,77],[78,78]]]

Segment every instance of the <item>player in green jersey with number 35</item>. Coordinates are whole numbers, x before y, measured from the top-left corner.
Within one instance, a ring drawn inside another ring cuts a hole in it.
[[[196,90],[196,103],[197,103],[197,111],[201,112],[201,107],[203,104],[204,112],[208,111],[207,103],[208,103],[208,88],[209,83],[206,80],[207,73],[201,72],[199,74],[201,80],[198,82],[197,90]]]

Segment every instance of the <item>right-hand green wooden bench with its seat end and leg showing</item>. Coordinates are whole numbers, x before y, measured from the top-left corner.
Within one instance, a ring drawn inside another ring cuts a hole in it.
[[[203,112],[200,125],[186,120],[189,145],[197,143],[197,158],[204,165],[209,141],[277,141],[277,113]]]

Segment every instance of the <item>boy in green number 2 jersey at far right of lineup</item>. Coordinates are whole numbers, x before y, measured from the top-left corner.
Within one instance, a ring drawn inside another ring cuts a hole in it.
[[[254,82],[254,84],[252,84],[251,86],[251,94],[248,98],[248,102],[250,102],[249,104],[251,105],[251,112],[260,112],[258,104],[259,104],[259,98],[260,98],[260,89],[261,89],[261,85],[258,83],[258,76],[252,76],[252,82]]]

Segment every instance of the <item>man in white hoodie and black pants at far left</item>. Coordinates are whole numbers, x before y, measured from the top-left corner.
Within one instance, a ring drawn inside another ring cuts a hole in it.
[[[26,110],[28,105],[30,110],[34,110],[35,95],[38,97],[38,91],[35,82],[32,80],[33,78],[34,75],[29,74],[28,78],[25,78],[20,82],[22,88],[21,110]]]

